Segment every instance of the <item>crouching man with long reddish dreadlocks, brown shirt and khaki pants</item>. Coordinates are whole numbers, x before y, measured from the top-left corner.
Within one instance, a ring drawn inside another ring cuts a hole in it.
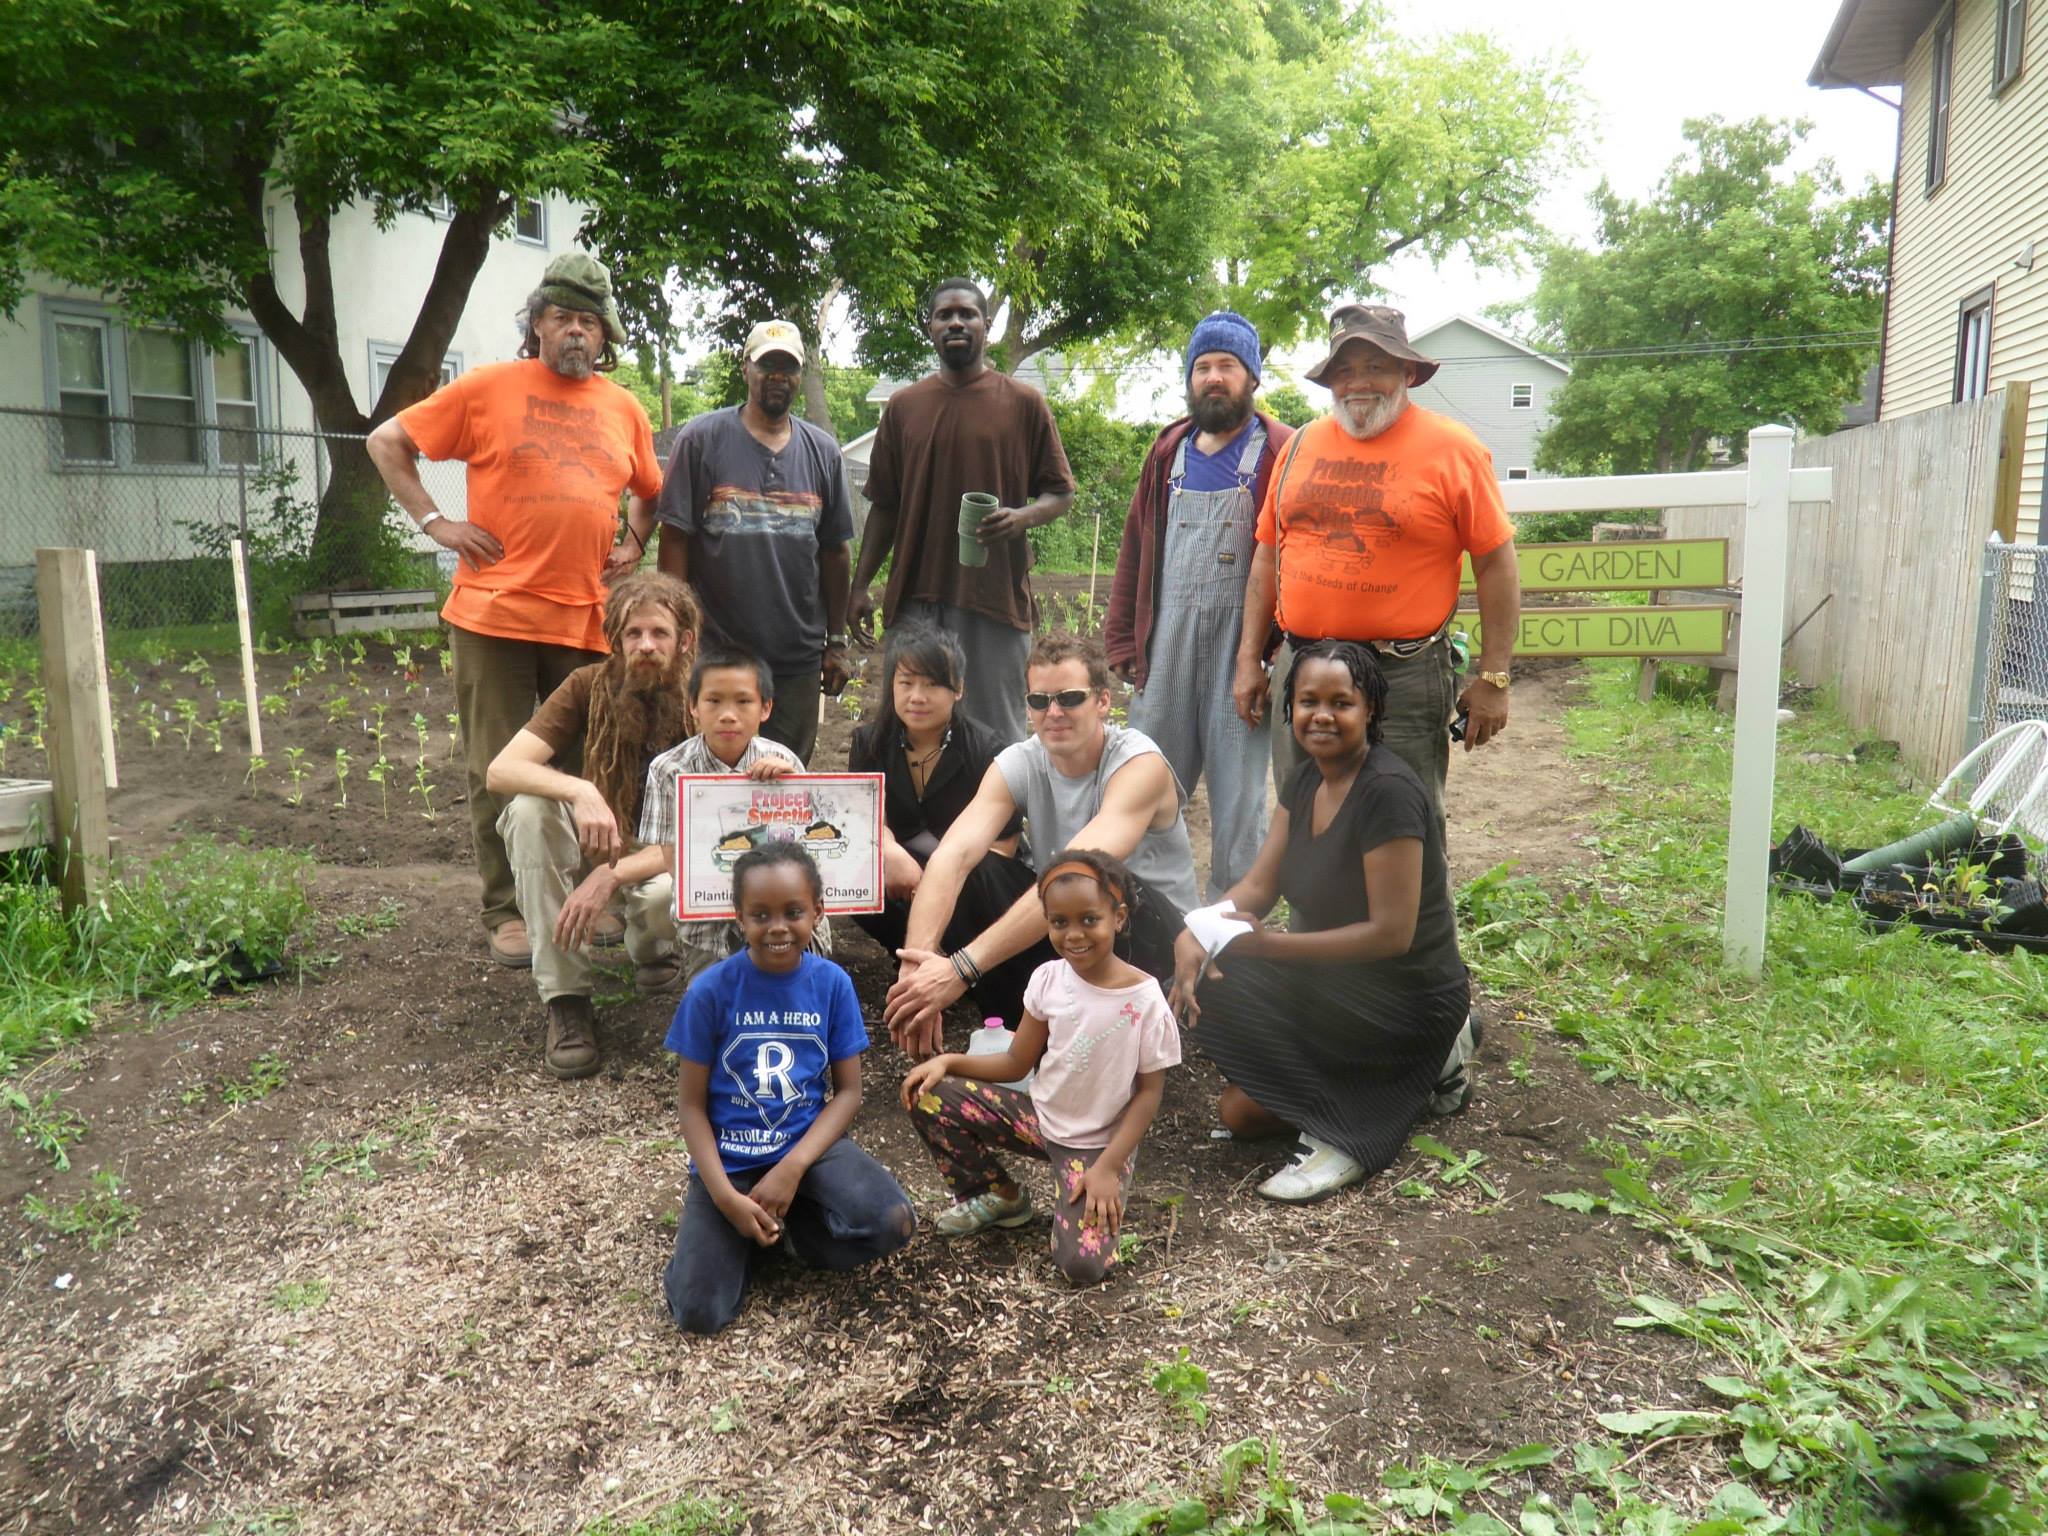
[[[641,991],[664,991],[682,973],[666,852],[637,842],[633,827],[647,764],[692,733],[684,680],[696,627],[682,582],[659,571],[618,582],[604,604],[610,655],[571,672],[485,774],[506,799],[498,836],[532,936],[543,1061],[555,1077],[588,1077],[602,1061],[584,948],[600,920],[623,911]],[[582,776],[553,766],[573,762],[578,745]]]

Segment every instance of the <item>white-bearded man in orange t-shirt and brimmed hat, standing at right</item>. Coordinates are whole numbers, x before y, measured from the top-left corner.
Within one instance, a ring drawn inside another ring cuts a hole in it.
[[[1257,725],[1296,643],[1366,641],[1386,674],[1384,741],[1442,821],[1452,702],[1470,715],[1466,752],[1507,725],[1522,582],[1493,455],[1407,397],[1436,369],[1407,344],[1399,309],[1346,305],[1329,317],[1329,354],[1307,379],[1329,389],[1331,412],[1294,434],[1266,489],[1233,696]],[[1477,676],[1456,692],[1446,625],[1464,555],[1479,578],[1481,651]],[[1276,623],[1286,645],[1268,678]],[[1274,780],[1286,795],[1307,758],[1282,711],[1272,713]]]

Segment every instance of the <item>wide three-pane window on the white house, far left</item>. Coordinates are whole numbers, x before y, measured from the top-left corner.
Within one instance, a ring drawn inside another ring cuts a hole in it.
[[[209,352],[111,309],[43,301],[43,369],[59,465],[219,469],[258,459],[256,336]],[[219,428],[219,430],[215,430]]]

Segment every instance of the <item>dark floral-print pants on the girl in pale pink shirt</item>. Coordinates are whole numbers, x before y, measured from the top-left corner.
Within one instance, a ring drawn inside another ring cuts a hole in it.
[[[940,1178],[961,1200],[973,1200],[995,1184],[1008,1184],[997,1151],[1044,1157],[1053,1165],[1053,1262],[1077,1286],[1100,1284],[1116,1264],[1116,1239],[1110,1229],[1081,1219],[1075,1194],[1081,1176],[1100,1157],[1098,1147],[1061,1147],[1038,1130],[1038,1110],[1030,1094],[1001,1083],[977,1083],[967,1077],[946,1077],[936,1090],[911,1104],[911,1124],[932,1149]],[[1137,1155],[1118,1169],[1116,1192],[1128,1204],[1130,1171]]]

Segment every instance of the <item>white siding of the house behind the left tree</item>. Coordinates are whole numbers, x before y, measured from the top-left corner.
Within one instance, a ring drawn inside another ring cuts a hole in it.
[[[268,217],[279,293],[299,311],[305,281],[291,203],[272,201]],[[551,197],[545,199],[543,213],[545,244],[514,240],[510,231],[492,244],[449,344],[459,371],[504,362],[518,352],[516,315],[549,258],[575,246],[580,223],[578,205]],[[422,213],[401,213],[389,229],[379,229],[362,207],[344,209],[334,221],[330,256],[342,365],[356,403],[365,410],[373,406],[373,346],[395,350],[412,334],[444,233],[444,221]],[[12,319],[0,319],[0,406],[57,406],[55,381],[45,377],[51,305],[74,305],[123,322],[102,295],[31,274],[27,301]],[[246,313],[229,311],[227,317],[256,332]],[[254,358],[260,424],[311,430],[311,399],[260,336]],[[309,440],[272,440],[266,446],[281,449],[297,463],[301,483],[311,489],[315,457]],[[440,506],[463,516],[461,467],[428,465],[424,473]],[[39,545],[53,543],[90,545],[100,551],[102,561],[174,559],[190,553],[178,524],[233,520],[240,500],[231,467],[66,467],[55,463],[43,422],[0,416],[0,567],[29,565]]]

